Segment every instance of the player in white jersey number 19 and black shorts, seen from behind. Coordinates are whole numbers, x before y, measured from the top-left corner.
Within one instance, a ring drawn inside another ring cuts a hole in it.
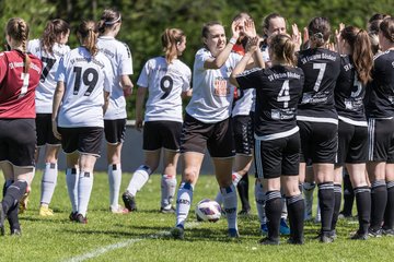
[[[67,154],[66,182],[70,219],[86,224],[93,170],[103,138],[103,114],[108,105],[111,61],[99,52],[97,26],[83,21],[77,29],[81,46],[65,55],[56,73],[53,131]]]

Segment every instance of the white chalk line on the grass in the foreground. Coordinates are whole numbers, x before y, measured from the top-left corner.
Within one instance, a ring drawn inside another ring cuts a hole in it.
[[[190,222],[190,223],[187,223],[186,224],[186,228],[195,228],[195,227],[198,227],[200,225],[200,223],[197,223],[197,222]],[[112,250],[115,250],[115,249],[120,249],[120,248],[125,248],[125,247],[128,247],[128,246],[131,246],[136,242],[139,242],[139,241],[142,241],[144,239],[153,239],[153,238],[160,238],[160,237],[164,237],[164,236],[170,236],[170,233],[169,231],[159,231],[157,234],[152,234],[146,238],[132,238],[132,239],[129,239],[129,240],[126,240],[126,241],[121,241],[121,242],[116,242],[116,243],[112,243],[112,245],[108,245],[108,246],[105,246],[105,247],[102,247],[102,248],[99,248],[96,250],[93,250],[92,252],[89,252],[89,253],[84,253],[82,255],[78,255],[78,257],[73,257],[73,258],[70,258],[70,259],[67,259],[65,260],[65,262],[80,262],[80,261],[85,261],[85,260],[89,260],[89,259],[93,259],[93,258],[96,258],[99,255],[102,255],[106,252],[109,252]]]

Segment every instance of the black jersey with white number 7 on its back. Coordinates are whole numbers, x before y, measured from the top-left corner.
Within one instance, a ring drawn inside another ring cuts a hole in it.
[[[340,71],[339,53],[324,48],[299,52],[298,66],[303,70],[305,83],[297,119],[315,121],[323,118],[337,121],[334,88]]]

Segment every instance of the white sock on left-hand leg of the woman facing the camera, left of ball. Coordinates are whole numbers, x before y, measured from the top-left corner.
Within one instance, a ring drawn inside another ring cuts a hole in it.
[[[176,199],[176,224],[184,227],[187,215],[190,211],[193,200],[193,186],[188,182],[182,182]]]

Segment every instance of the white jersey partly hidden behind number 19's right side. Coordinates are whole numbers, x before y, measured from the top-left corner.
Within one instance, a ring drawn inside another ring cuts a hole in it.
[[[118,41],[112,36],[100,36],[97,46],[100,51],[109,59],[113,68],[113,80],[111,81],[112,93],[104,119],[114,120],[127,118],[126,99],[120,85],[120,79],[121,75],[132,74],[130,49],[126,44]]]

